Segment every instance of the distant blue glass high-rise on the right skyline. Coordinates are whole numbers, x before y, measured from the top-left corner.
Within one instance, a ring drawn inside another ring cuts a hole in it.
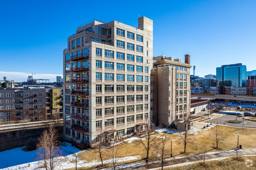
[[[217,86],[246,87],[246,66],[241,63],[216,68]]]

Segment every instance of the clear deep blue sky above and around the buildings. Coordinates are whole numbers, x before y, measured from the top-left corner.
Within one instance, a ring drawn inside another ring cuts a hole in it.
[[[184,62],[190,54],[200,76],[224,64],[243,63],[250,71],[256,69],[255,7],[255,0],[3,1],[0,71],[62,75],[63,49],[77,26],[97,18],[137,27],[138,15],[154,22],[154,56]]]

